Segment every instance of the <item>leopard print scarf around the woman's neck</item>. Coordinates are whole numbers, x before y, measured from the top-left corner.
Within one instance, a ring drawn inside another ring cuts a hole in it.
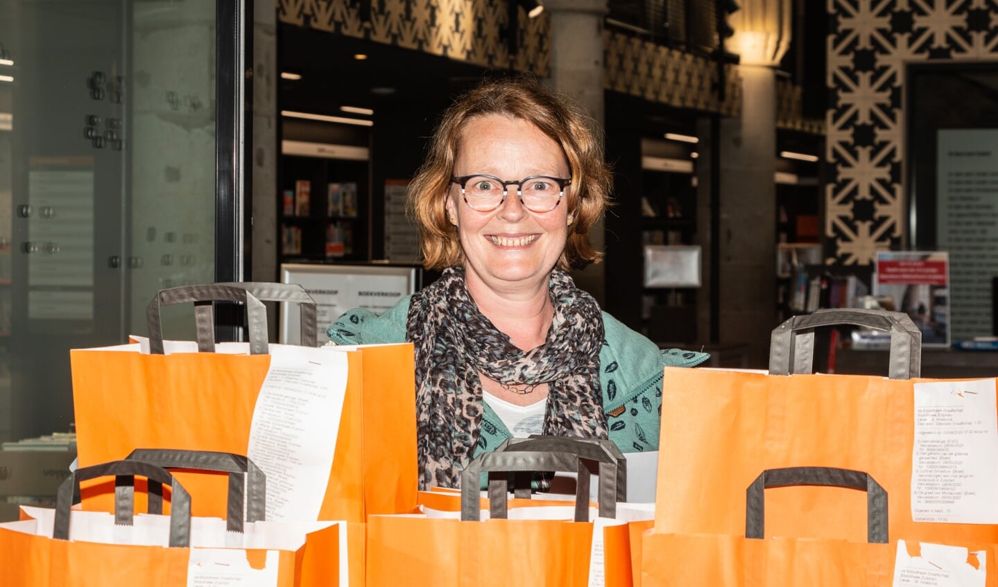
[[[479,373],[504,384],[548,384],[545,435],[607,438],[600,308],[564,271],[552,272],[550,288],[555,316],[545,343],[531,351],[479,312],[461,267],[412,296],[405,330],[416,353],[420,489],[459,486],[482,422]]]

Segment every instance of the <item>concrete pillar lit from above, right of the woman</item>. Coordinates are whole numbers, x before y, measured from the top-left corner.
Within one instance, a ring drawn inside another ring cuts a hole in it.
[[[743,65],[742,114],[722,119],[720,342],[748,343],[752,367],[765,367],[775,327],[776,77]]]

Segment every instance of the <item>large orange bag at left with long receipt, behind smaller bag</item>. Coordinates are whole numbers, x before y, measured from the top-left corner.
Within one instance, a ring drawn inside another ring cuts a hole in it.
[[[218,352],[194,352],[194,343],[164,344],[157,338],[162,331],[153,320],[149,348],[164,354],[147,352],[142,343],[71,352],[80,464],[124,458],[136,448],[235,452],[250,455],[267,473],[271,509],[280,506],[280,495],[272,498],[278,489],[289,496],[319,491],[317,501],[305,508],[313,512],[306,516],[310,519],[362,522],[370,513],[414,507],[417,482],[411,345],[346,349],[267,345],[265,316],[257,309],[262,305],[246,288],[236,285],[164,290],[150,305],[151,316],[158,316],[161,302],[199,304],[197,347]],[[247,285],[257,293],[263,288],[264,299],[281,299],[279,288],[276,293],[265,288],[282,284]],[[249,345],[215,346],[212,319],[205,311],[211,306],[203,304],[205,299],[246,302]],[[303,320],[306,315],[303,311]],[[304,326],[302,332],[306,332]],[[333,369],[328,373],[338,374],[339,387],[329,384],[335,389],[325,390],[326,382],[316,380],[319,372],[315,369]],[[322,391],[309,395],[309,385]],[[296,395],[284,401],[280,394],[289,387],[296,389]],[[262,401],[261,390],[268,390],[267,402]],[[327,396],[332,393],[338,396]],[[309,412],[306,407],[311,400],[325,402],[319,405],[329,407],[328,411]],[[300,408],[297,413],[296,406]],[[267,440],[271,437],[277,440]],[[326,469],[322,462],[295,468],[295,451],[303,449],[326,450],[331,464],[327,459]],[[267,470],[267,462],[271,470]],[[286,468],[293,474],[274,474],[274,463],[280,465],[278,470]],[[195,515],[226,515],[225,474],[178,475],[192,492],[204,496],[194,503]],[[106,488],[86,486],[85,509],[108,509]],[[102,494],[105,496],[98,497]],[[293,504],[290,497],[285,501]]]

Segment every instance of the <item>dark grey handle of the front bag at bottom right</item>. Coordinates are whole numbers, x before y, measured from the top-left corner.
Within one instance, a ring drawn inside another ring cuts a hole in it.
[[[887,492],[872,475],[847,468],[790,466],[763,470],[746,490],[746,538],[765,535],[763,489],[790,485],[829,485],[866,491],[866,541],[887,543]]]

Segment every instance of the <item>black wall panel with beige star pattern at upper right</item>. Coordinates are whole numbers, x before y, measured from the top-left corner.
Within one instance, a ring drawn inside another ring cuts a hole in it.
[[[998,57],[998,0],[828,0],[828,262],[905,242],[904,69]]]

